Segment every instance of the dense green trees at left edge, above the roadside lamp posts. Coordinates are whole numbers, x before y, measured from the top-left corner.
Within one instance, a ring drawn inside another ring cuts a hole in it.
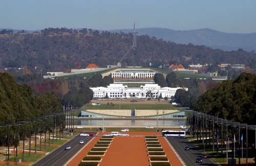
[[[0,73],[0,122],[10,123],[62,111],[54,93],[34,96],[28,85],[18,85],[7,73]],[[1,137],[1,136],[0,136]],[[1,142],[1,141],[0,141]]]

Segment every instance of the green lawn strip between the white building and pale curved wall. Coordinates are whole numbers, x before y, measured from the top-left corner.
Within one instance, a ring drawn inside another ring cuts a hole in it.
[[[136,103],[136,102],[135,102]],[[120,109],[153,109],[153,110],[176,110],[179,107],[174,107],[170,104],[120,104]],[[114,107],[111,107],[107,104],[101,104],[99,106],[93,106],[93,105],[86,105],[87,109],[119,109],[119,104],[115,104]]]

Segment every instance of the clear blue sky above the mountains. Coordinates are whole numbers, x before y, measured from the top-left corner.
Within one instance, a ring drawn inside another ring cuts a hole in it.
[[[0,28],[256,32],[255,0],[0,0]]]

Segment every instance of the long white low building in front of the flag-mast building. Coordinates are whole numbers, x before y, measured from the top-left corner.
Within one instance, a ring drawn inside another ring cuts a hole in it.
[[[140,87],[127,87],[127,85],[123,84],[110,84],[107,87],[92,87],[94,98],[105,98],[108,96],[110,99],[125,99],[125,98],[139,98],[146,99],[147,93],[151,91],[151,98],[158,98],[160,95],[162,98],[171,98],[175,96],[177,89],[185,89],[188,88],[170,88],[170,87],[160,87],[158,84],[145,84]]]

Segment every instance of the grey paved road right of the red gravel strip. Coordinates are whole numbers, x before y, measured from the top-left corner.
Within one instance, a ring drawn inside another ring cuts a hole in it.
[[[183,137],[166,137],[169,143],[174,147],[186,165],[218,165],[209,158],[203,159],[202,163],[197,163],[196,159],[201,158],[202,152]],[[185,151],[185,147],[190,150]]]

